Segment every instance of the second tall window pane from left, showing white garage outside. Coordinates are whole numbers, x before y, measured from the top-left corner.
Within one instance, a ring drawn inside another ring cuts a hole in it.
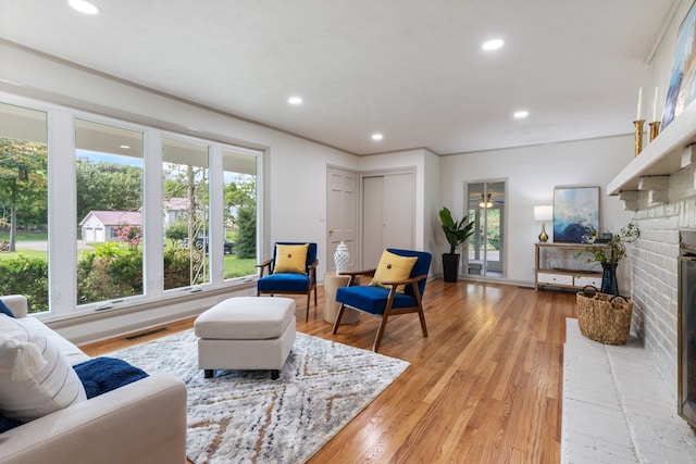
[[[140,296],[141,131],[75,121],[77,304]]]

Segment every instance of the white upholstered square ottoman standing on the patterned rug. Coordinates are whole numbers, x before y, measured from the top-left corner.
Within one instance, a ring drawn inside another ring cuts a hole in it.
[[[275,380],[295,343],[295,300],[229,298],[198,316],[194,333],[206,378],[213,369],[271,369]]]

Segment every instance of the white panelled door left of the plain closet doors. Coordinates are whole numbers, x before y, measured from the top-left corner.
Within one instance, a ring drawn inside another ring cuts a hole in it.
[[[328,166],[326,202],[326,269],[335,269],[334,252],[343,241],[348,247],[348,269],[357,271],[358,256],[358,173]]]

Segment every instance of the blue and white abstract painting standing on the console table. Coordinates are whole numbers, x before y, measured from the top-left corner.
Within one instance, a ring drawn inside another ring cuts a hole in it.
[[[554,241],[586,243],[599,230],[599,187],[554,189]]]

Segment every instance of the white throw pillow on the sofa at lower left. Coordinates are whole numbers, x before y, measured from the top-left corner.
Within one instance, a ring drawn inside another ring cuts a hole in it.
[[[0,314],[0,413],[22,422],[85,401],[58,346],[22,319]]]

